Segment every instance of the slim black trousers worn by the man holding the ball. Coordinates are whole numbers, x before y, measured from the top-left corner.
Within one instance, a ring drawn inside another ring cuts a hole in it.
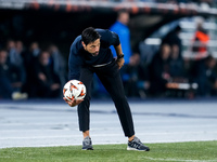
[[[110,93],[115,104],[125,136],[130,137],[135,135],[131,111],[125,96],[119,69],[115,60],[103,67],[87,66],[80,69],[79,80],[86,85],[87,94],[85,100],[78,105],[79,130],[82,132],[90,130],[89,107],[91,99],[91,83],[94,72]]]

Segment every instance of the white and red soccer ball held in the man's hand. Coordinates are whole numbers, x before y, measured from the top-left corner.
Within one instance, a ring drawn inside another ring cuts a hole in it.
[[[63,87],[63,95],[66,99],[82,99],[86,96],[86,86],[81,81],[71,80]]]

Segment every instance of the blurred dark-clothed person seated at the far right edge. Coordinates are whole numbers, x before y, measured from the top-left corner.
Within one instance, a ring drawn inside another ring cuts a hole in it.
[[[195,62],[192,77],[199,84],[199,95],[217,95],[217,73],[214,70],[215,66],[216,59],[212,55]]]

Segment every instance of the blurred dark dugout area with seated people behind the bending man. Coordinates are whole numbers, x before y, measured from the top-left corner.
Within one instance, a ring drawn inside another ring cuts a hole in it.
[[[69,46],[89,26],[119,35],[127,97],[216,97],[216,0],[0,0],[0,99],[61,98]],[[110,97],[97,76],[92,90],[92,98]]]

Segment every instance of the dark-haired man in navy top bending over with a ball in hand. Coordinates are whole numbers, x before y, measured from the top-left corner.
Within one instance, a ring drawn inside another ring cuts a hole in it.
[[[110,46],[114,45],[117,59],[113,58]],[[115,32],[104,29],[85,29],[71,46],[69,80],[80,80],[87,89],[85,99],[64,100],[71,106],[78,105],[79,130],[82,132],[82,149],[91,150],[92,141],[89,134],[89,107],[93,73],[97,73],[106,91],[111,94],[125,133],[128,137],[128,150],[149,151],[138,137],[135,136],[131,111],[125,97],[119,69],[124,65],[124,54],[119,38]]]

